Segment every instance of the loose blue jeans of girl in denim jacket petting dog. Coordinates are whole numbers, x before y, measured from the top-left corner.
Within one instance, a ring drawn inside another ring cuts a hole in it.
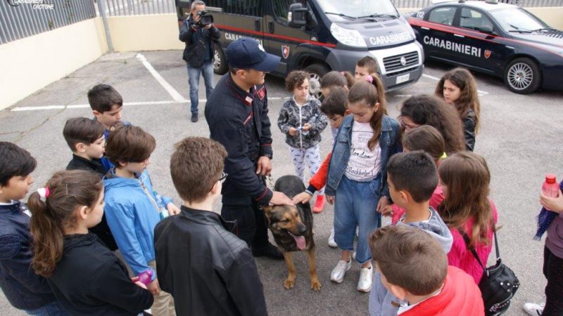
[[[356,261],[361,264],[372,259],[367,238],[381,225],[381,214],[376,211],[380,178],[381,173],[372,181],[358,182],[343,176],[336,190],[334,241],[342,250],[354,250],[355,230],[358,225],[360,231]]]

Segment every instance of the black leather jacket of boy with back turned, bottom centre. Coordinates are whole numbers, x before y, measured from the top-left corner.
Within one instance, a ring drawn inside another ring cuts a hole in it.
[[[185,206],[156,225],[158,282],[178,316],[267,315],[251,250],[232,228],[217,213]]]

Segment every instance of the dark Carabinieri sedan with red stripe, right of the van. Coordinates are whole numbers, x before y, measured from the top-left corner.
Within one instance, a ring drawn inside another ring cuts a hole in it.
[[[426,58],[502,77],[515,93],[563,90],[563,32],[494,0],[443,2],[412,13]]]

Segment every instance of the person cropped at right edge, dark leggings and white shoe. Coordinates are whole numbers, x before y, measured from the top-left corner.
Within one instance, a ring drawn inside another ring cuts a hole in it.
[[[545,286],[545,305],[526,303],[524,310],[529,315],[563,314],[563,192],[558,197],[540,195],[540,204],[550,211],[559,213],[548,227],[548,237],[543,250],[543,275],[548,279]]]

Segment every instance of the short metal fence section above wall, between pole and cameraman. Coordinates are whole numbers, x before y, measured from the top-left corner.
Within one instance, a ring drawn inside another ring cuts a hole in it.
[[[176,13],[174,0],[105,0],[106,14],[116,15],[145,15]]]

